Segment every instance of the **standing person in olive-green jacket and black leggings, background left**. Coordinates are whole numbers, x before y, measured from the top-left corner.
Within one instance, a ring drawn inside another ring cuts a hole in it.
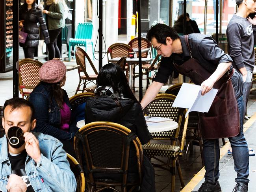
[[[67,9],[67,5],[64,0],[47,0],[46,7],[43,10],[43,13],[46,14],[50,35],[50,44],[48,44],[49,60],[55,57],[61,58],[61,52],[57,46],[57,38],[62,28],[65,27],[65,9]]]

